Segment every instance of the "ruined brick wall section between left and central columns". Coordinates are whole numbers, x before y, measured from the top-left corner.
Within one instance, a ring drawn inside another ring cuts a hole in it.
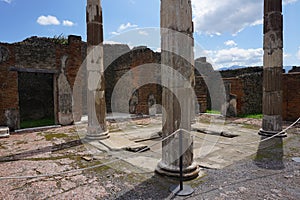
[[[111,56],[109,52],[112,51],[112,48],[112,46],[104,45],[104,62],[105,66],[108,65],[105,70],[105,96],[108,112],[112,111],[111,97],[116,84],[127,72],[132,72],[132,80],[130,80],[131,83],[128,84],[135,87],[138,86],[140,80],[159,76],[158,72],[151,71],[151,69],[149,72],[141,72],[134,70],[134,68],[145,64],[160,63],[160,53],[155,53],[147,47],[137,47],[129,51],[127,46],[118,45],[115,46],[115,48],[118,48],[117,51],[114,51],[116,55]],[[131,93],[133,95],[129,102],[123,102],[123,104],[129,104],[129,112],[132,114],[149,114],[148,99],[150,95],[154,95],[157,104],[161,103],[160,85],[147,84],[140,88],[136,88],[136,91],[123,92]],[[128,112],[128,110],[118,110],[117,112]]]

